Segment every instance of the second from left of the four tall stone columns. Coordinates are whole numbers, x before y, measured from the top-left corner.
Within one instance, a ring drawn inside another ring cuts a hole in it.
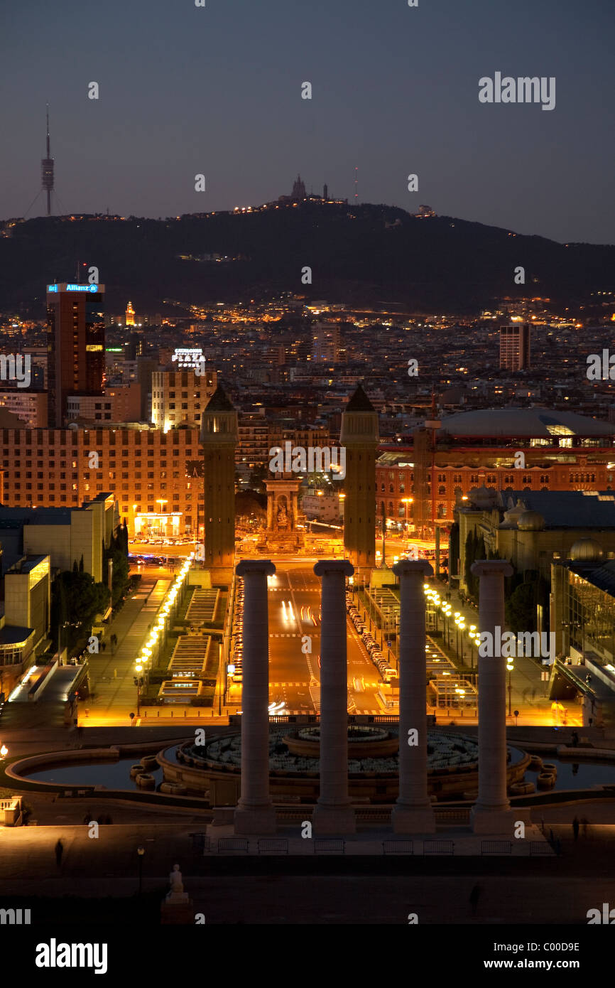
[[[312,821],[318,834],[353,834],[354,810],[348,796],[348,686],[346,669],[346,559],[323,559],[314,567],[322,577],[320,795]]]

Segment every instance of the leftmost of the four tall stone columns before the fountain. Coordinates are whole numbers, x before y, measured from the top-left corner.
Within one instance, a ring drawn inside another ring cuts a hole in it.
[[[242,559],[244,578],[244,662],[241,718],[241,796],[235,810],[236,834],[274,834],[275,810],[269,796],[269,559]]]

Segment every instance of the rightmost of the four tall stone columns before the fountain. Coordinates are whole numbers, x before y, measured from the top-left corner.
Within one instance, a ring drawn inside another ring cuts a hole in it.
[[[507,834],[512,814],[506,795],[506,663],[495,655],[500,651],[495,636],[496,628],[500,634],[504,627],[504,576],[513,570],[506,559],[491,559],[473,563],[472,572],[481,581],[479,630],[489,631],[494,644],[479,647],[479,797],[472,807],[472,829]],[[491,654],[481,655],[484,650]]]

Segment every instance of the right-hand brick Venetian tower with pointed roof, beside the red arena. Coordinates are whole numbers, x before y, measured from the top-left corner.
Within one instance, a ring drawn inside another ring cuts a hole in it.
[[[346,448],[346,559],[355,571],[371,569],[376,564],[378,414],[360,384],[342,414],[340,446]]]

